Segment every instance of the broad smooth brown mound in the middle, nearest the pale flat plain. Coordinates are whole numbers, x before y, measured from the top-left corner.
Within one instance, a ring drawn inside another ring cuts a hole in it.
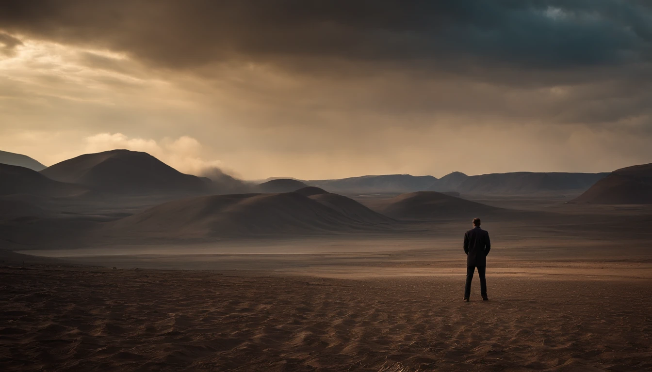
[[[171,201],[102,227],[102,236],[215,238],[377,229],[300,193],[211,195]]]

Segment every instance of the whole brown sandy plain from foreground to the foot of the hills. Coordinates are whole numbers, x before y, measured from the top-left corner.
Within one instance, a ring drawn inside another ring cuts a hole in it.
[[[483,223],[488,302],[462,302],[467,220],[12,244],[0,371],[652,371],[650,207],[493,203],[537,212]]]

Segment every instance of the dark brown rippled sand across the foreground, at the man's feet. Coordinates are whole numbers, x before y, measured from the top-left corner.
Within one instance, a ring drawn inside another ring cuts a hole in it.
[[[0,370],[652,370],[650,269],[601,265],[488,270],[490,301],[476,279],[470,303],[446,265],[349,279],[6,267]]]

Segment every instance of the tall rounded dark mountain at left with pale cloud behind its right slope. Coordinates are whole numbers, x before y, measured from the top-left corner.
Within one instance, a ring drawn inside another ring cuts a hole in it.
[[[210,186],[208,179],[185,175],[147,152],[130,150],[80,155],[40,173],[109,193],[195,193]]]

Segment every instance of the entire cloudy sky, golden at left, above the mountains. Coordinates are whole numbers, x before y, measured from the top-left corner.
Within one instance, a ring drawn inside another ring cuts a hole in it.
[[[652,162],[644,0],[0,3],[0,149],[243,179]]]

